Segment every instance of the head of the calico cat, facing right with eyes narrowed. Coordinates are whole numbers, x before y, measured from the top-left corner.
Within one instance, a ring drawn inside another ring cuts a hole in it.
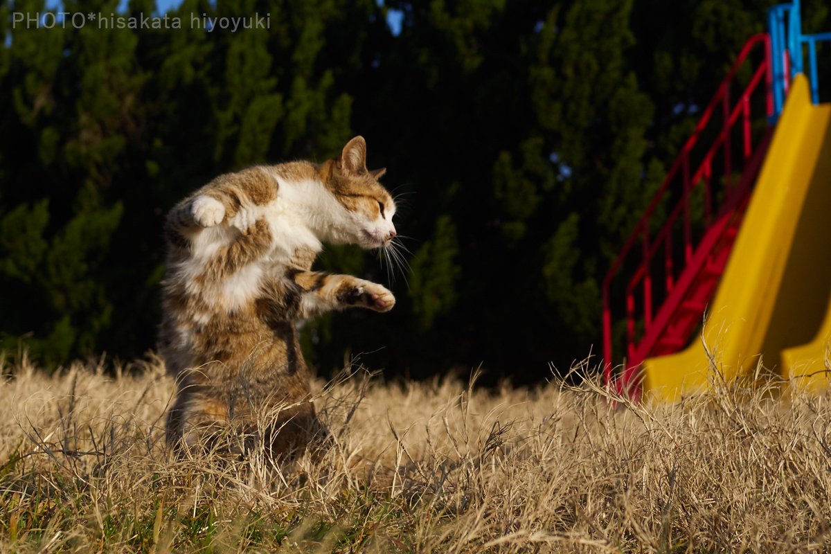
[[[343,147],[340,158],[331,160],[327,189],[347,209],[346,226],[342,229],[349,242],[363,248],[380,248],[396,238],[392,216],[396,203],[378,179],[386,169],[366,169],[366,140],[356,136]]]

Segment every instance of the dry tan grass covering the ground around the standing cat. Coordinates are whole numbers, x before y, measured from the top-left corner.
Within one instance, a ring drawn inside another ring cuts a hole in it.
[[[332,447],[274,468],[170,458],[159,363],[5,373],[0,552],[831,549],[827,397],[725,386],[648,406],[590,381],[485,391],[358,372],[320,390]]]

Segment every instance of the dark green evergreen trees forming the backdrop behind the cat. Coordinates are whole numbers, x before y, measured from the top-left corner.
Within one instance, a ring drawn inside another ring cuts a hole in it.
[[[12,29],[0,3],[3,348],[28,337],[51,364],[152,348],[166,210],[217,174],[322,160],[361,134],[403,193],[411,271],[390,314],[309,322],[311,359],[544,378],[597,345],[609,262],[772,2],[215,3],[184,0],[182,28],[140,30]],[[831,28],[824,2],[803,9],[807,30]],[[154,10],[131,0],[121,15]],[[268,28],[192,24],[254,13]],[[386,281],[356,248],[319,265]]]

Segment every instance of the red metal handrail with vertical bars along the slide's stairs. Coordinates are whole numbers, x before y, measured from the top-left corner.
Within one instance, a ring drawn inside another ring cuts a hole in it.
[[[745,61],[748,61],[751,53],[755,51],[757,47],[764,47],[764,61],[755,69],[749,84],[745,87],[744,91],[742,91],[738,101],[736,101],[735,105],[731,105],[730,85],[735,79],[736,73],[740,71],[742,66],[745,65]],[[642,359],[637,359],[637,357],[639,357],[637,355],[637,347],[639,346],[637,341],[637,321],[642,319],[645,327],[645,331],[643,332],[644,335],[647,334],[647,331],[653,325],[652,320],[655,315],[655,311],[653,309],[653,279],[650,267],[652,260],[655,259],[656,255],[661,250],[661,247],[664,252],[664,262],[662,264],[664,268],[663,294],[668,294],[676,283],[676,267],[674,267],[672,258],[672,226],[679,218],[681,218],[682,214],[682,240],[684,248],[682,265],[684,267],[691,262],[694,251],[696,250],[696,247],[699,246],[699,244],[694,242],[692,236],[691,191],[695,189],[699,183],[704,184],[704,223],[706,227],[709,227],[713,218],[711,210],[713,198],[713,164],[717,161],[716,156],[720,153],[721,158],[719,160],[722,162],[724,169],[725,191],[730,191],[732,184],[732,172],[735,169],[735,160],[732,157],[733,145],[730,131],[733,130],[737,123],[741,123],[742,169],[745,169],[748,161],[754,156],[755,150],[760,147],[765,147],[766,145],[764,140],[757,140],[754,145],[753,136],[751,134],[752,127],[750,125],[752,115],[750,98],[759,89],[763,76],[765,77],[764,92],[766,100],[765,108],[767,111],[766,115],[771,115],[773,113],[773,98],[770,92],[772,82],[772,75],[770,71],[770,38],[766,33],[760,33],[754,37],[750,37],[750,40],[745,43],[744,47],[742,47],[739,56],[737,56],[736,61],[730,68],[727,76],[725,76],[725,79],[721,82],[715,96],[713,96],[710,104],[707,105],[706,110],[702,113],[701,119],[696,125],[696,130],[686,141],[686,144],[681,149],[681,153],[676,157],[675,161],[671,165],[666,174],[666,178],[661,183],[661,187],[653,197],[652,202],[649,203],[646,212],[635,225],[634,231],[627,239],[627,242],[624,244],[620,254],[618,254],[617,258],[614,262],[612,262],[609,272],[607,272],[606,277],[603,279],[603,373],[607,384],[612,382],[612,306],[610,297],[612,280],[617,276],[617,273],[621,271],[624,262],[630,258],[630,254],[635,251],[634,247],[640,240],[642,248],[639,248],[638,250],[641,251],[641,259],[637,263],[637,268],[635,269],[632,277],[629,278],[625,288],[628,358],[626,365],[632,367],[634,365],[639,365],[642,362]],[[703,159],[701,159],[701,162],[696,166],[695,171],[693,171],[691,175],[692,150],[696,147],[696,145],[698,145],[701,135],[707,129],[707,126],[719,105],[722,113],[720,132],[711,143]],[[672,189],[677,189],[677,186],[672,187],[671,185],[676,184],[678,180],[681,181],[681,198],[671,209],[665,222],[661,226],[661,229],[657,231],[657,233],[651,234],[651,218],[661,203],[666,199],[666,195],[669,194]],[[729,194],[725,194],[725,197],[726,196],[729,196]],[[722,204],[721,209],[727,208],[726,204],[727,203],[725,201],[725,203]],[[677,269],[683,271],[684,267]],[[680,271],[678,273],[680,274]],[[635,298],[635,291],[637,287],[642,287],[642,311],[638,311],[637,309],[638,306]]]

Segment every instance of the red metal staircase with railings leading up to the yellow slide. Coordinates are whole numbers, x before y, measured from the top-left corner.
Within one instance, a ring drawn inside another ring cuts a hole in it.
[[[759,34],[745,43],[603,280],[604,376],[618,392],[637,396],[642,361],[680,351],[701,324],[770,141],[770,85],[770,40]],[[732,89],[741,93],[734,98]],[[617,372],[612,344],[623,330],[612,328],[613,317],[626,321]]]

